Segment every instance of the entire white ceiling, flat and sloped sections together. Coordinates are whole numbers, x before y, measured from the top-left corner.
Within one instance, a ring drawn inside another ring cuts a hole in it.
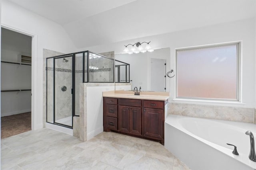
[[[10,0],[64,27],[78,49],[256,16],[256,0]]]

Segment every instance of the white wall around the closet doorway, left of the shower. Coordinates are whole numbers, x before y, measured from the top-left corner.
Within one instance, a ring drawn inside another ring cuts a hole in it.
[[[62,51],[71,53],[77,51],[74,44],[64,31],[64,29],[41,16],[38,16],[10,1],[2,0],[2,26],[17,29],[19,31],[33,35],[32,48],[32,67],[36,68],[32,72],[32,100],[35,113],[32,116],[34,125],[32,129],[43,127],[43,49]],[[33,88],[33,86],[32,86]]]

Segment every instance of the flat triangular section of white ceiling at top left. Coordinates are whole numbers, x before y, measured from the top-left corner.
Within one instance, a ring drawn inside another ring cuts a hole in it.
[[[111,10],[134,0],[10,0],[60,25]]]

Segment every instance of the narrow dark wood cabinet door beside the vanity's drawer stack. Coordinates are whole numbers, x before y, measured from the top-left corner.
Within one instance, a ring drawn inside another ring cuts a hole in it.
[[[118,131],[129,133],[129,111],[129,106],[118,106]]]

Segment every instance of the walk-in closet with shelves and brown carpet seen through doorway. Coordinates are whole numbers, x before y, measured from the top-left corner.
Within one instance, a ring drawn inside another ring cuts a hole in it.
[[[32,37],[1,28],[1,139],[31,130]]]

